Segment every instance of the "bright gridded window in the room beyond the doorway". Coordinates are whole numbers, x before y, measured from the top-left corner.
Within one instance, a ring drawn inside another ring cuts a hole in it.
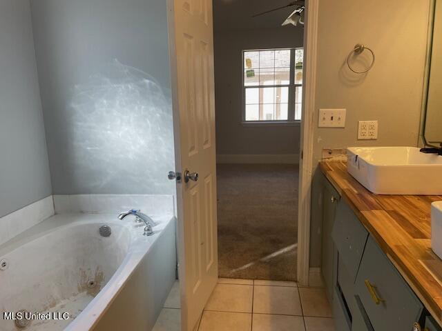
[[[244,121],[300,121],[304,49],[244,50]]]

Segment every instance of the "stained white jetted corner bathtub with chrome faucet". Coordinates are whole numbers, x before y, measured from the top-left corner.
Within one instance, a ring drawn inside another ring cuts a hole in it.
[[[60,318],[23,330],[151,330],[176,263],[175,219],[155,221],[145,237],[133,217],[60,214],[1,245],[0,330],[17,330],[3,312],[20,310]],[[104,224],[110,237],[99,234]]]

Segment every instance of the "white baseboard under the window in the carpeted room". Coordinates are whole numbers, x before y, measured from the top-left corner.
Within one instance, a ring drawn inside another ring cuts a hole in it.
[[[218,154],[217,163],[299,164],[299,154]]]

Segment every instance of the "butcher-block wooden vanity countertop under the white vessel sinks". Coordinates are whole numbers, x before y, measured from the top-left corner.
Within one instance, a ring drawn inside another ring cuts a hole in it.
[[[345,161],[320,161],[320,170],[442,325],[442,260],[431,249],[431,203],[442,196],[373,194]]]

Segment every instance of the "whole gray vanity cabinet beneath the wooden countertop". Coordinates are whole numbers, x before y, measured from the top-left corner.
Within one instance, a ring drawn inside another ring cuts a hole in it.
[[[323,185],[322,270],[339,331],[442,331],[329,183]],[[425,322],[425,324],[424,324]],[[425,327],[424,327],[425,325]]]

